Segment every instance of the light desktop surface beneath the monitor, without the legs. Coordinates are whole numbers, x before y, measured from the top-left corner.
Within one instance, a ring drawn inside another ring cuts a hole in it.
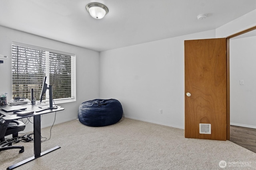
[[[24,117],[31,117],[31,116],[34,116],[34,115],[42,115],[42,114],[46,114],[46,113],[51,113],[51,112],[55,112],[55,111],[64,110],[63,107],[58,107],[57,109],[47,109],[47,110],[44,110],[44,111],[40,111],[40,110],[43,110],[43,109],[39,108],[38,106],[28,104],[28,105],[26,105],[26,107],[27,107],[26,110],[34,111],[34,113],[31,114],[31,115],[26,115],[26,116],[18,116],[16,114],[12,114],[12,115],[8,114],[7,112],[5,112],[4,110],[1,109],[2,107],[12,107],[12,106],[7,105],[7,106],[1,106],[0,107],[0,113],[2,115],[4,115],[3,119],[5,119],[5,120],[21,119],[21,118],[24,118]],[[36,111],[39,111],[39,112],[36,112]],[[12,112],[10,112],[10,113],[12,113]]]

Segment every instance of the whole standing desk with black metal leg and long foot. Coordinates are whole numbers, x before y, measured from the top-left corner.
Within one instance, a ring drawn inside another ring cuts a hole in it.
[[[12,107],[12,106],[4,106],[4,107]],[[14,119],[21,119],[21,118],[25,118],[25,117],[33,117],[34,118],[34,156],[32,156],[32,157],[30,157],[26,160],[23,160],[21,162],[18,162],[16,164],[12,165],[12,166],[9,166],[7,168],[7,170],[12,170],[12,169],[14,169],[14,168],[16,168],[16,167],[18,167],[22,164],[30,162],[31,160],[39,158],[40,156],[43,156],[44,154],[47,154],[49,152],[52,152],[53,150],[56,150],[56,149],[60,148],[59,146],[56,146],[52,149],[48,149],[44,152],[41,152],[41,118],[40,118],[40,116],[43,115],[43,114],[46,114],[46,113],[61,111],[61,110],[64,110],[64,108],[63,107],[57,107],[57,109],[44,110],[44,109],[40,109],[38,106],[34,106],[34,105],[27,105],[26,107],[27,107],[26,110],[34,111],[34,113],[31,114],[31,115],[27,115],[27,116],[18,116],[16,114],[10,115],[10,113],[12,113],[12,112],[10,112],[8,114],[5,111],[3,111],[2,109],[0,109],[0,113],[2,115],[4,115],[4,117],[2,119],[4,119],[5,121],[10,121],[10,120],[14,120]],[[2,107],[0,107],[0,108],[2,108]]]

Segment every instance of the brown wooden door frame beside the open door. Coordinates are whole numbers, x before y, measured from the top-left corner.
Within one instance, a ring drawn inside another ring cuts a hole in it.
[[[250,27],[248,29],[245,29],[243,31],[240,31],[238,33],[234,33],[228,37],[226,37],[226,47],[227,47],[227,140],[230,141],[230,46],[229,41],[231,38],[234,38],[238,35],[242,35],[244,33],[247,33],[249,31],[253,31],[256,29],[256,26]]]

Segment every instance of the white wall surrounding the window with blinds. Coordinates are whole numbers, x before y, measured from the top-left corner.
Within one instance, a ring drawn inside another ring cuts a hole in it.
[[[99,98],[99,52],[1,26],[0,37],[1,55],[12,56],[12,41],[76,54],[76,102],[58,104],[65,110],[57,112],[56,123],[77,118],[78,107],[82,102]],[[0,94],[8,93],[7,100],[10,101],[12,99],[12,63],[10,58],[4,59],[4,63],[0,64],[0,75]],[[44,115],[42,127],[52,125],[53,120],[54,113]],[[25,130],[31,131],[32,129],[30,124],[26,126]]]

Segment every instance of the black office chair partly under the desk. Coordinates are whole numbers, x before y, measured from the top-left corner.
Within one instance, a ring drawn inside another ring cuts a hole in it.
[[[11,135],[13,138],[18,137],[18,132],[23,131],[26,125],[22,121],[10,120],[6,121],[2,119],[3,115],[0,115],[0,141],[1,143],[6,141],[5,136]],[[12,141],[6,141],[4,144],[0,145],[0,151],[7,149],[20,149],[20,153],[24,152],[23,146],[12,146]]]

